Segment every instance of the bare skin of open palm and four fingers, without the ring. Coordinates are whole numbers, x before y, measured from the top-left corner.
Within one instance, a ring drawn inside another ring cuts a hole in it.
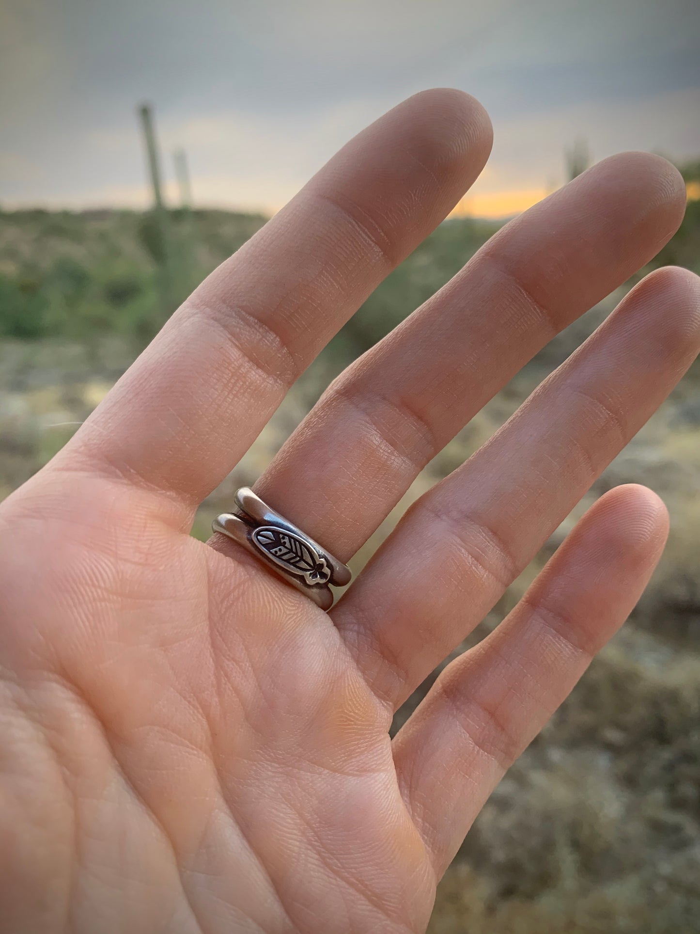
[[[511,615],[473,629],[700,347],[691,274],[648,276],[326,615],[189,537],[289,385],[485,162],[455,91],[378,120],[189,298],[0,507],[0,930],[424,931],[484,800],[623,623],[665,507],[611,490]],[[600,163],[513,221],[337,380],[260,478],[348,559],[553,333],[679,225],[663,160]]]

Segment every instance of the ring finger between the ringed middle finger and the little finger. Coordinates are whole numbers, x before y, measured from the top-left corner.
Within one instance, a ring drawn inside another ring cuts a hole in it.
[[[698,349],[700,280],[652,273],[500,432],[414,503],[333,614],[379,697],[398,706],[466,637]]]

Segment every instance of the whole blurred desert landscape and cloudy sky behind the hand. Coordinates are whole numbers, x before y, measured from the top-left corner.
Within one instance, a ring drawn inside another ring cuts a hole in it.
[[[357,555],[354,570],[406,506],[469,458],[638,277],[667,263],[700,273],[700,35],[693,37],[700,19],[690,3],[673,0],[662,15],[662,5],[625,0],[618,5],[624,15],[608,13],[610,21],[602,13],[596,20],[590,7],[584,13],[574,2],[535,3],[533,10],[545,18],[533,25],[517,21],[513,3],[498,0],[489,19],[482,5],[463,4],[455,12],[454,4],[440,0],[431,16],[457,16],[464,35],[477,37],[461,48],[442,33],[435,39],[427,5],[409,3],[415,35],[399,31],[401,54],[386,50],[392,68],[401,74],[411,66],[412,78],[401,84],[392,72],[374,96],[365,93],[365,72],[358,77],[352,66],[379,61],[386,51],[380,40],[389,41],[393,25],[369,4],[348,4],[357,17],[335,23],[312,0],[300,5],[299,21],[268,3],[271,20],[259,22],[253,7],[242,4],[243,26],[231,43],[240,46],[234,51],[245,50],[244,64],[262,66],[273,53],[278,61],[285,35],[287,44],[298,43],[297,59],[286,50],[287,64],[299,64],[297,72],[287,71],[287,81],[270,86],[262,79],[256,85],[248,72],[245,87],[235,84],[241,55],[232,55],[233,64],[224,61],[211,41],[199,58],[183,51],[182,35],[199,35],[197,17],[209,15],[215,30],[218,3],[208,9],[177,0],[170,19],[161,0],[142,3],[140,19],[132,0],[119,9],[98,3],[103,20],[93,13],[85,22],[78,22],[79,7],[77,0],[65,5],[65,25],[55,7],[39,0],[7,3],[13,38],[0,77],[6,68],[28,91],[19,105],[15,92],[9,99],[7,85],[0,91],[0,116],[10,131],[9,143],[0,147],[0,497],[63,446],[189,290],[245,243],[347,135],[385,102],[417,90],[412,82],[464,86],[483,99],[497,132],[494,167],[301,377],[245,459],[203,502],[194,535],[208,537],[211,519],[230,507],[233,490],[256,480],[334,375],[439,289],[509,217],[595,158],[638,148],[677,163],[688,191],[679,233],[648,269],[539,353],[428,464]],[[561,19],[559,7],[566,7],[568,19]],[[304,22],[312,20],[315,29],[306,35]],[[378,38],[365,47],[364,58],[354,58],[351,40],[360,42],[368,23]],[[505,38],[493,51],[499,23]],[[337,53],[345,64],[334,64],[324,50],[309,65],[310,43],[323,38],[321,27],[331,26],[338,36],[345,30]],[[140,36],[135,45],[133,35]],[[91,55],[68,64],[77,39]],[[473,80],[467,65],[459,71],[468,55],[477,62],[469,65]],[[212,78],[198,98],[181,82],[178,96],[175,64],[196,85],[197,63],[203,67],[207,56],[219,84]],[[372,78],[382,74],[377,66]],[[109,81],[91,83],[97,75]],[[222,75],[243,103],[236,111],[215,107],[196,114],[198,100],[208,94],[216,103],[224,93]],[[290,84],[318,102],[315,110],[302,108],[296,124]],[[351,86],[354,95],[345,93]],[[529,124],[522,112],[528,93],[544,93],[547,105],[533,110]],[[146,94],[158,102],[159,120],[162,112],[160,135],[144,135],[144,112],[135,105]],[[335,110],[333,94],[341,101]],[[117,117],[110,123],[106,113]],[[671,537],[661,566],[628,625],[488,802],[441,884],[432,934],[700,931],[700,363],[470,641],[511,609],[583,510],[628,481],[655,489],[669,508]],[[396,727],[430,683],[399,712]]]

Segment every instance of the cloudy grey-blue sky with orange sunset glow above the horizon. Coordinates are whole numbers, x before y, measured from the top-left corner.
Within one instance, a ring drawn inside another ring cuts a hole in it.
[[[413,92],[474,94],[494,151],[460,210],[505,217],[565,177],[576,139],[700,156],[699,0],[0,0],[0,206],[166,197],[271,213]]]

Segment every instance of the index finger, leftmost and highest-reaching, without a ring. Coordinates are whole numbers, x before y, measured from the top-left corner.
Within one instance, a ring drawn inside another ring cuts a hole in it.
[[[175,494],[187,522],[490,147],[463,92],[416,94],[372,123],[189,297],[62,460]]]

